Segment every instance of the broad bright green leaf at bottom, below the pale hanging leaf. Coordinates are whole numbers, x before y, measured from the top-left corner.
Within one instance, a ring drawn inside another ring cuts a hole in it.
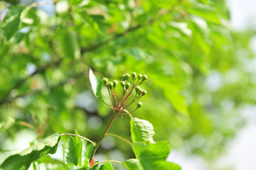
[[[180,170],[181,167],[172,162],[167,162],[171,147],[168,142],[161,141],[154,144],[150,142],[137,142],[132,144],[132,149],[143,169],[169,169]]]

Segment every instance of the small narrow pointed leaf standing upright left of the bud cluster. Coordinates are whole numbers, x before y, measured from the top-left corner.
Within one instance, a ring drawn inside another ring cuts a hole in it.
[[[91,83],[91,86],[92,86],[93,94],[97,98],[101,99],[102,98],[102,92],[101,91],[102,91],[103,81],[93,74],[92,69],[90,69],[90,71],[89,71],[89,77],[90,77],[90,83]]]

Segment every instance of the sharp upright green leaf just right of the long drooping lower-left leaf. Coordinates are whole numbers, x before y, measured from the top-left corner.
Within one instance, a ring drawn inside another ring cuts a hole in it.
[[[65,164],[73,163],[78,165],[81,156],[82,145],[75,140],[75,137],[68,137],[63,145],[63,159]]]

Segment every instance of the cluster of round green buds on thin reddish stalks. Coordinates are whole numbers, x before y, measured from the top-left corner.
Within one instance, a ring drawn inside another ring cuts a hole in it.
[[[132,76],[131,76],[132,75]],[[107,86],[108,91],[110,92],[111,104],[114,111],[119,114],[122,114],[121,111],[124,111],[125,108],[130,106],[134,101],[137,101],[142,96],[146,95],[146,90],[139,87],[144,81],[146,81],[147,76],[142,74],[136,74],[133,72],[132,74],[124,74],[122,75],[120,85],[122,86],[123,93],[122,97],[119,102],[117,102],[117,84],[118,81],[108,81],[107,78],[103,78],[102,81],[104,82],[105,86]],[[129,83],[129,78],[132,78],[132,85]],[[132,95],[132,91],[135,90],[135,98],[132,100],[131,103],[127,104],[127,99]],[[137,108],[142,107],[142,102],[137,103]],[[136,111],[137,108],[134,110]]]

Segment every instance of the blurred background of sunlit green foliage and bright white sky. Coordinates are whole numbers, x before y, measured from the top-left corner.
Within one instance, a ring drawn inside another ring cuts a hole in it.
[[[154,125],[156,141],[169,141],[169,161],[183,170],[254,169],[254,6],[1,1],[0,163],[54,132],[100,137],[111,111],[92,94],[92,67],[111,80],[148,75],[148,94],[134,117]],[[129,118],[116,120],[111,131],[129,139]],[[124,161],[131,153],[107,137],[95,158]],[[53,158],[61,157],[60,147]]]

